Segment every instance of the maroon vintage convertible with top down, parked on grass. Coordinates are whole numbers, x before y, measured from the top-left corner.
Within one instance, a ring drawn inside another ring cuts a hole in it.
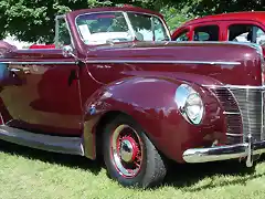
[[[55,30],[55,48],[3,48],[1,139],[103,155],[137,187],[161,182],[167,159],[252,167],[265,151],[259,45],[173,42],[162,15],[134,7],[72,11]]]

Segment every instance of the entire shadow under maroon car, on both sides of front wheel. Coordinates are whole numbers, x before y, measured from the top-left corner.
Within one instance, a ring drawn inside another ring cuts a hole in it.
[[[0,140],[0,151],[10,155],[25,157],[28,159],[36,159],[43,163],[62,165],[70,168],[80,168],[97,175],[102,168],[105,168],[103,160],[89,160],[85,157],[63,155],[56,153],[49,153],[29,147],[19,146]],[[262,157],[258,161],[264,161]],[[227,178],[218,176],[226,176]],[[239,161],[220,161],[208,164],[184,164],[177,165],[170,163],[168,176],[162,186],[176,187],[184,191],[195,192],[203,189],[211,189],[215,187],[224,187],[227,185],[245,185],[246,181],[265,176],[264,174],[256,174],[255,168],[246,168],[244,164]],[[198,182],[208,178],[203,185]],[[160,188],[160,186],[153,189]]]

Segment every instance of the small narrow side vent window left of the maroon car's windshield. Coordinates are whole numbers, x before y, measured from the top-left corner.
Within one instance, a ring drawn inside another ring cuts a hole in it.
[[[71,35],[65,19],[57,19],[57,45],[61,49],[64,45],[71,45]]]

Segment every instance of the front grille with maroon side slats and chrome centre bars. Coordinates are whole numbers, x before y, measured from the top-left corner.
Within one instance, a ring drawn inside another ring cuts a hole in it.
[[[262,90],[219,87],[213,91],[225,111],[229,144],[242,142],[242,132],[244,140],[250,133],[254,140],[263,139]]]

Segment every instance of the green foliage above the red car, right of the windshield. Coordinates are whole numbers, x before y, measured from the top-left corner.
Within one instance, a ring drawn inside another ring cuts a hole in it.
[[[161,12],[171,30],[195,17],[236,11],[264,11],[263,0],[179,0],[167,1]]]

